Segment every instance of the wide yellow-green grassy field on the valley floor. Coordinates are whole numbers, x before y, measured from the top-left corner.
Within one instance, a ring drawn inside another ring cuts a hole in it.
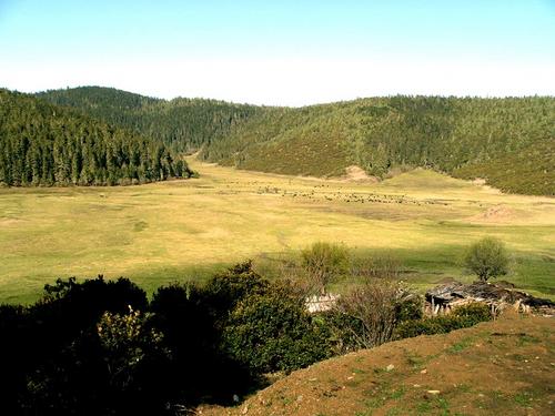
[[[416,170],[382,183],[238,171],[127,187],[0,190],[0,302],[31,302],[57,277],[128,276],[148,291],[203,280],[248,257],[261,271],[314,241],[389,251],[424,288],[464,276],[463,250],[506,242],[506,280],[555,297],[555,200],[505,195]],[[340,283],[341,284],[341,283]]]

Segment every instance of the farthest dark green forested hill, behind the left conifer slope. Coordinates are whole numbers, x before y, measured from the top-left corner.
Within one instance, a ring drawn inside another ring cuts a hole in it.
[[[236,124],[264,111],[260,106],[216,100],[159,100],[101,87],[52,90],[36,95],[161,141],[179,152],[196,151],[202,144],[226,135]]]

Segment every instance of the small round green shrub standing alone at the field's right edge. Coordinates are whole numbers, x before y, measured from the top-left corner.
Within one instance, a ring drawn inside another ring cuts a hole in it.
[[[502,241],[485,237],[468,247],[464,264],[481,281],[487,282],[508,273],[508,254]]]

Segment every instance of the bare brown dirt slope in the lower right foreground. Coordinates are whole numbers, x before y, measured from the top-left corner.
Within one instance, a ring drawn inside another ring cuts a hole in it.
[[[553,415],[555,321],[502,317],[329,359],[202,415]]]

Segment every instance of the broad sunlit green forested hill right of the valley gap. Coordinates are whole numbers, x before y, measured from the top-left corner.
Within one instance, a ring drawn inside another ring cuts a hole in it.
[[[555,195],[555,98],[391,97],[265,109],[201,158],[265,172],[383,177],[425,166],[507,192]]]

